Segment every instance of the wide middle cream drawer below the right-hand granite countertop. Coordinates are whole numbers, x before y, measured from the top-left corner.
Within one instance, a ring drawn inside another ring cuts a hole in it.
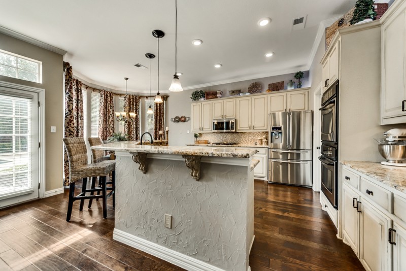
[[[363,197],[373,200],[385,210],[392,212],[392,192],[389,192],[364,178],[361,178],[359,190],[362,192]]]

